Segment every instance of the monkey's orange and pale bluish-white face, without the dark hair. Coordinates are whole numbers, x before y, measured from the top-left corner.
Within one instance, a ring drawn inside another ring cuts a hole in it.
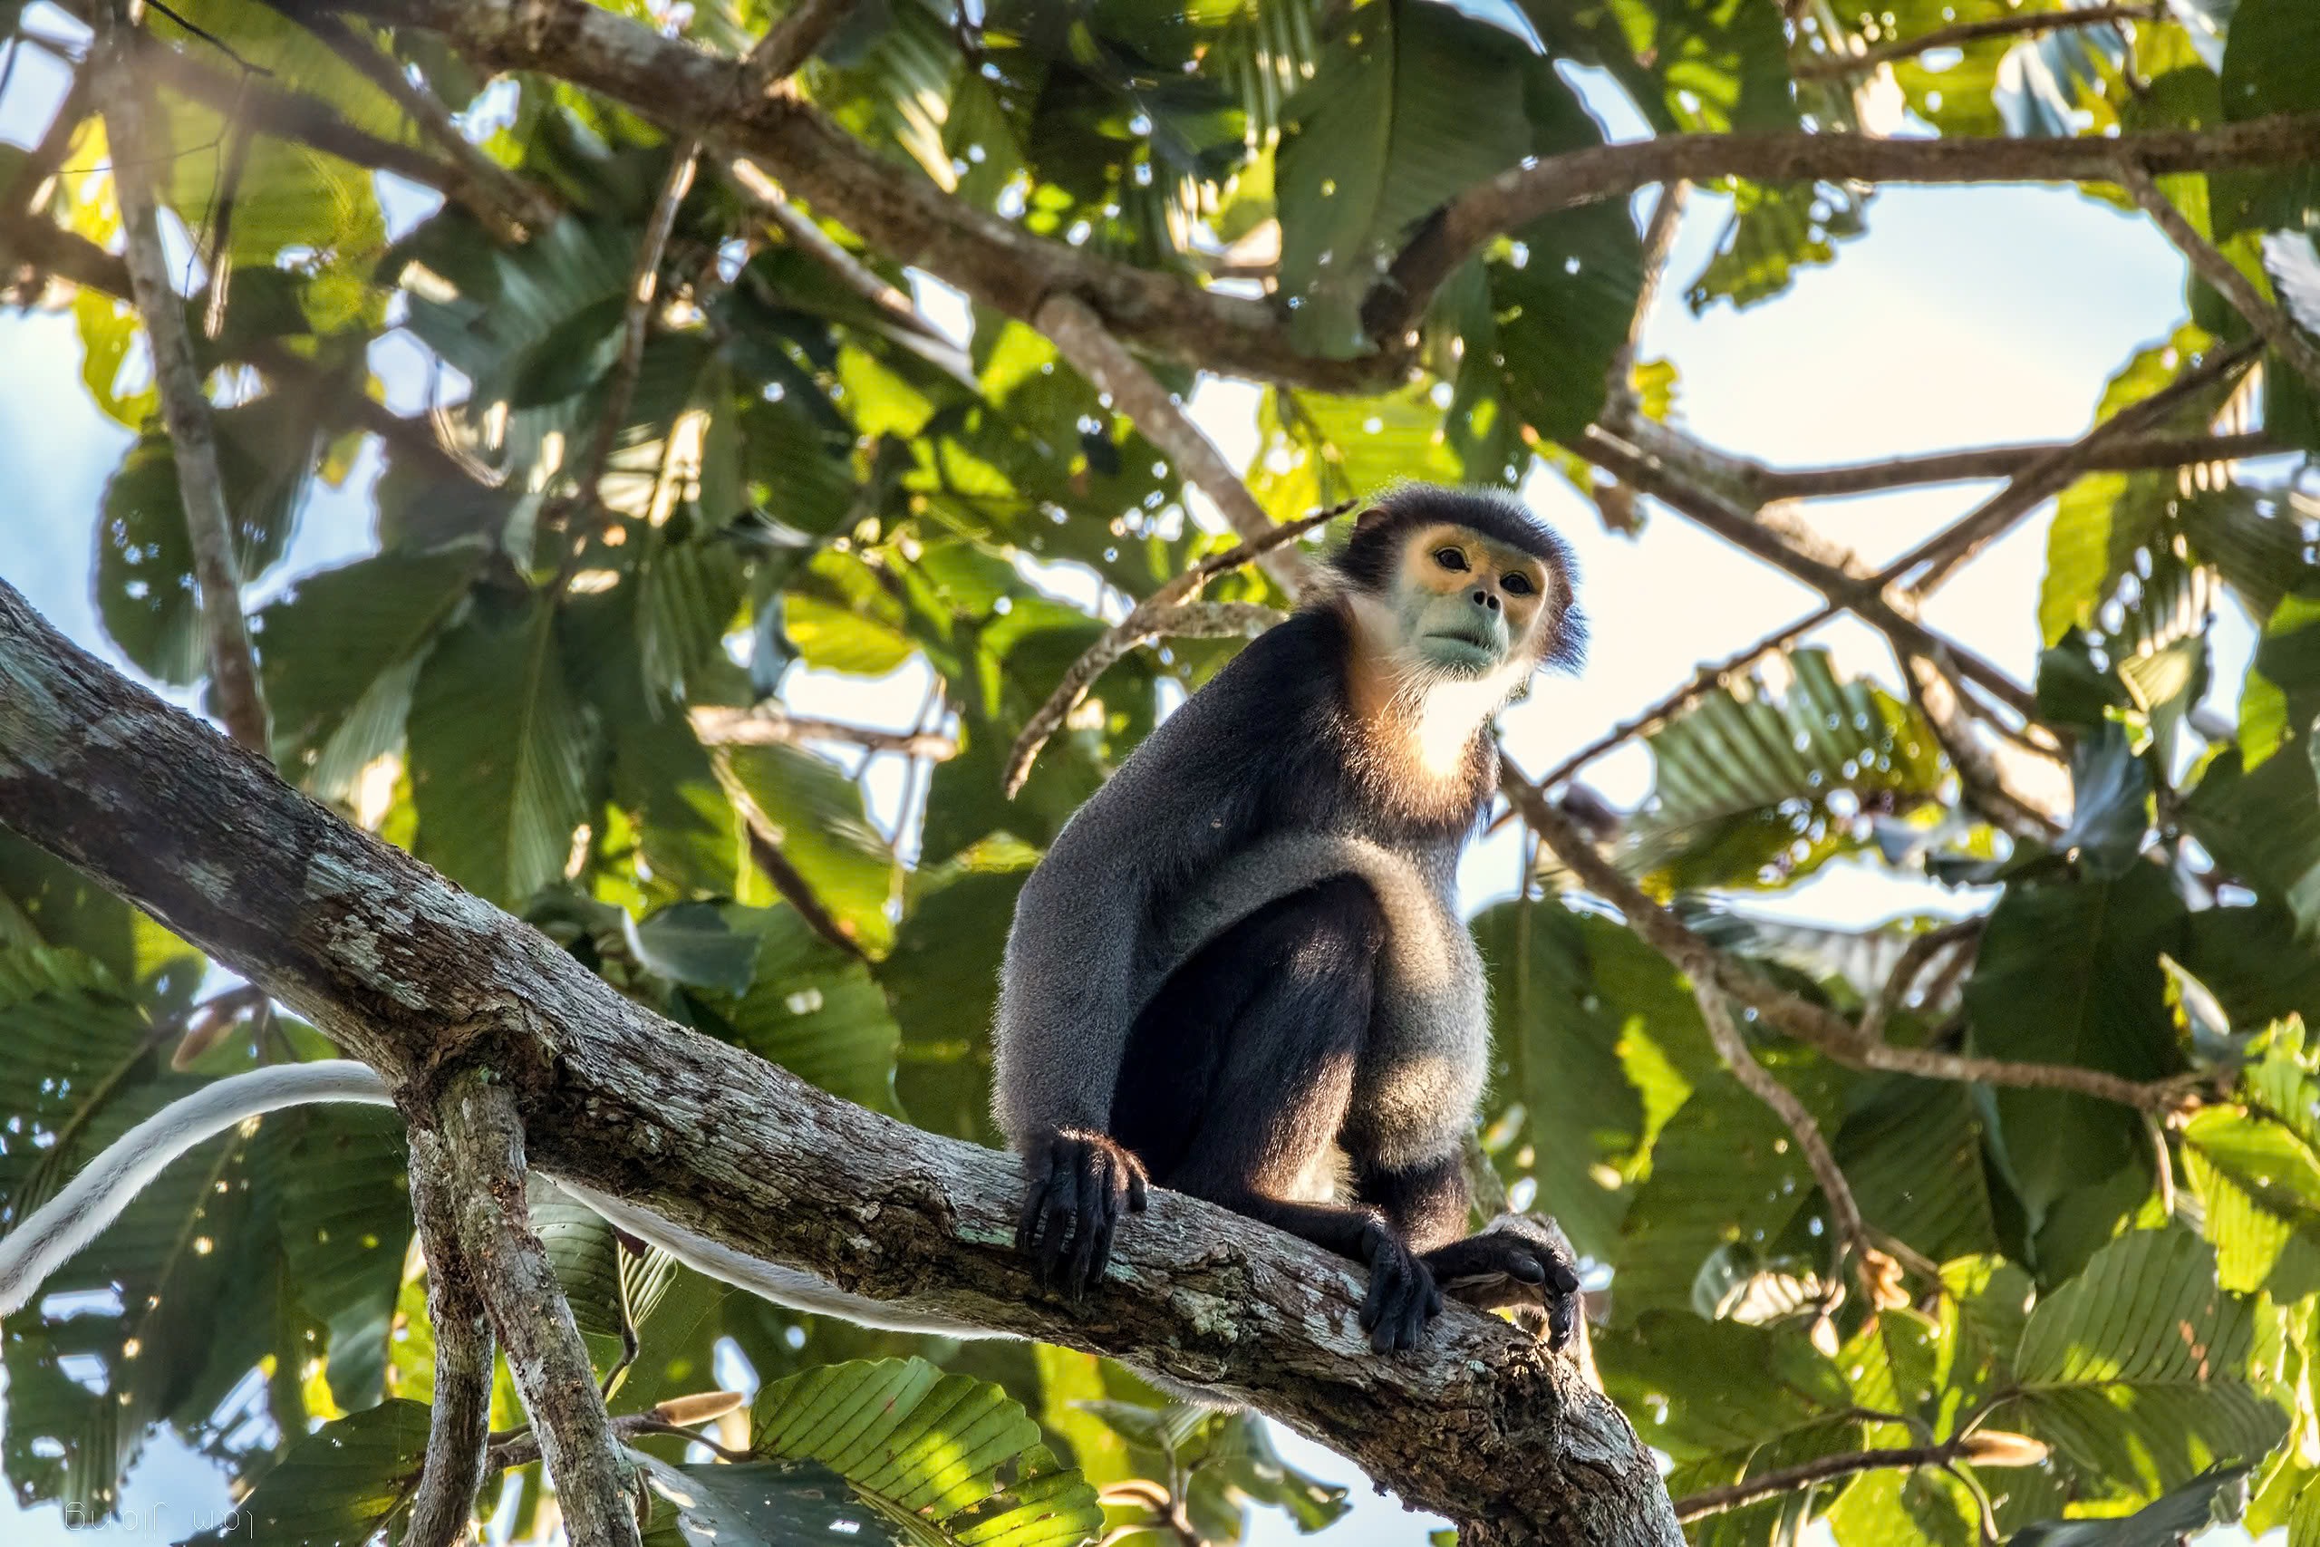
[[[1536,661],[1547,566],[1469,526],[1420,526],[1401,550],[1392,608],[1408,659],[1445,677],[1489,677]]]

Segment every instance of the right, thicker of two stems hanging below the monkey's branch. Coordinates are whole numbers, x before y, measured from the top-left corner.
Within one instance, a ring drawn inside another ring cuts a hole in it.
[[[508,1018],[522,1011],[510,1007]],[[490,1065],[450,1076],[434,1125],[411,1130],[413,1171],[450,1183],[459,1255],[508,1350],[573,1547],[640,1547],[636,1473],[612,1436],[596,1371],[524,1206],[524,1120]]]

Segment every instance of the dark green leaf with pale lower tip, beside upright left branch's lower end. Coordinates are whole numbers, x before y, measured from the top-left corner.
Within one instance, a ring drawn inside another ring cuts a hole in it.
[[[306,575],[255,619],[274,758],[341,796],[404,738],[427,645],[466,596],[480,545],[378,554]]]

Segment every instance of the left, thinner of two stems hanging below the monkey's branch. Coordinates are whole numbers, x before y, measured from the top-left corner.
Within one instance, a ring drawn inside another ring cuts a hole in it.
[[[492,1431],[492,1322],[459,1248],[457,1176],[438,1143],[411,1146],[411,1220],[427,1255],[427,1322],[434,1329],[434,1399],[427,1461],[404,1524],[408,1547],[457,1547],[471,1535]]]

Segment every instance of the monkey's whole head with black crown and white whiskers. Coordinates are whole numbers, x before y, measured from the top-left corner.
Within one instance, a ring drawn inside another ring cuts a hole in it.
[[[1503,703],[1587,654],[1571,545],[1496,489],[1394,489],[1355,517],[1332,571],[1364,645],[1411,687],[1471,682]]]

